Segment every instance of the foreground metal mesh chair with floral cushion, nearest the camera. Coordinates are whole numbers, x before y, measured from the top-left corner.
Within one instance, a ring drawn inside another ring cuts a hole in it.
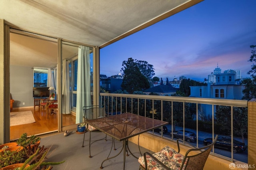
[[[218,135],[214,141],[204,147],[196,148],[188,142],[177,139],[178,152],[169,146],[164,147],[160,152],[150,154],[145,152],[140,156],[138,162],[142,170],[203,170],[204,164],[215,144]],[[188,144],[192,148],[189,149],[185,156],[180,154],[180,141]],[[146,161],[145,161],[146,160]],[[139,170],[140,170],[139,169]]]

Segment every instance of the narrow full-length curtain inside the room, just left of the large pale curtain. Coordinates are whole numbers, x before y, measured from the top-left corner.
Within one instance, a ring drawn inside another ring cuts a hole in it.
[[[70,114],[71,111],[69,87],[68,61],[64,59],[62,61],[62,114]]]

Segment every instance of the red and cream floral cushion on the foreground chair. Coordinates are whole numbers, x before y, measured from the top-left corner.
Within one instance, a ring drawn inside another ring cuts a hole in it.
[[[174,149],[170,148],[169,146],[164,147],[160,152],[154,153],[154,157],[164,163],[172,170],[179,170],[184,159],[184,156]],[[158,162],[156,162],[153,158],[149,155],[146,155],[148,169],[149,170],[165,170]],[[140,156],[138,162],[145,167],[144,156]],[[186,162],[185,162],[186,164]],[[185,167],[183,167],[185,168]]]

